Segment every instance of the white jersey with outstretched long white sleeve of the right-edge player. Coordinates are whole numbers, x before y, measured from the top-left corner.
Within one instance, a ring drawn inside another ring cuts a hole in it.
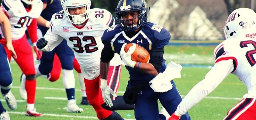
[[[175,115],[184,115],[213,91],[230,73],[247,87],[243,98],[256,98],[256,38],[230,38],[214,50],[215,65],[178,105]]]

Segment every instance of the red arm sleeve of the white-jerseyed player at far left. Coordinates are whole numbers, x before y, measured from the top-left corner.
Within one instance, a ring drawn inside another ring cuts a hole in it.
[[[31,24],[27,27],[27,32],[31,42],[35,43],[37,40],[37,22],[35,18],[33,18]]]

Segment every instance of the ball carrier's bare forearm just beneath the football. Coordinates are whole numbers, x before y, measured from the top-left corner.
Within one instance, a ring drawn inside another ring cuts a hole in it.
[[[154,75],[154,76],[156,76],[158,74],[157,70],[155,69],[155,67],[151,63],[136,62],[133,69],[137,69],[141,72],[144,72],[144,73],[147,73],[147,74],[150,74],[150,75]]]

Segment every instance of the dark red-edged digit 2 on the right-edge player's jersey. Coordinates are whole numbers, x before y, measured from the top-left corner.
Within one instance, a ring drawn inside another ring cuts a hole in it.
[[[255,58],[253,57],[253,54],[256,54],[256,42],[253,41],[253,40],[241,41],[241,42],[240,42],[240,47],[241,47],[241,48],[243,48],[243,47],[248,47],[248,46],[247,46],[248,44],[252,44],[253,47],[254,47],[254,50],[247,51],[245,56],[246,56],[248,62],[249,62],[249,63],[251,64],[251,66],[253,67],[253,65],[256,64],[256,60],[255,60]]]

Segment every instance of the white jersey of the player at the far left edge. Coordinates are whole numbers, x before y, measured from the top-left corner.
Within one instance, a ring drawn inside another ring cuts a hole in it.
[[[1,8],[5,15],[9,18],[11,24],[12,40],[20,39],[30,25],[33,18],[38,18],[43,9],[41,0],[33,0],[30,10],[26,10],[21,0],[2,0]],[[3,31],[0,28],[0,34]]]

